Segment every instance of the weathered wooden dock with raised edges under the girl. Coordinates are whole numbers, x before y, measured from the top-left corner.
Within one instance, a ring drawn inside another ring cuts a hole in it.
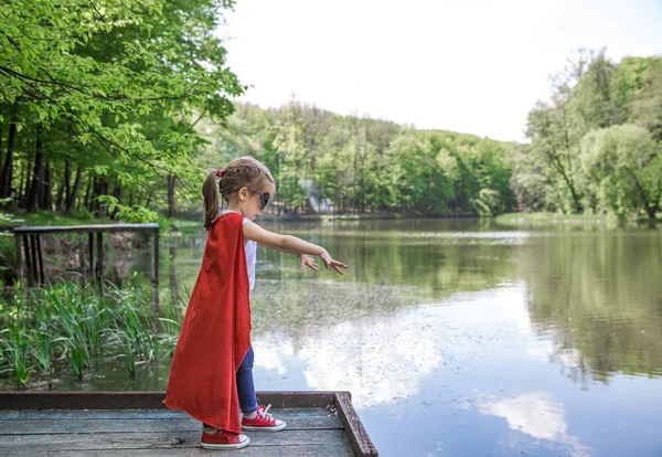
[[[200,447],[201,424],[163,392],[0,392],[2,456],[377,456],[349,392],[258,392],[282,432],[239,450]]]

